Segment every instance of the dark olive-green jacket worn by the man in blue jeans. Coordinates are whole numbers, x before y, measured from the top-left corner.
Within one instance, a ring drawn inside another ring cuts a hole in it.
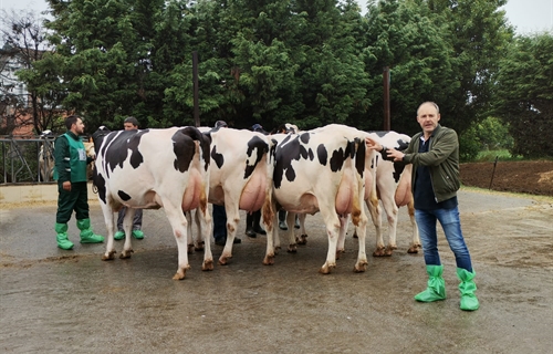
[[[428,153],[418,153],[421,133],[413,136],[409,146],[404,152],[404,162],[413,164],[411,186],[415,187],[417,167],[427,166],[436,201],[448,200],[457,195],[461,186],[459,180],[459,139],[453,129],[438,124],[430,136]]]

